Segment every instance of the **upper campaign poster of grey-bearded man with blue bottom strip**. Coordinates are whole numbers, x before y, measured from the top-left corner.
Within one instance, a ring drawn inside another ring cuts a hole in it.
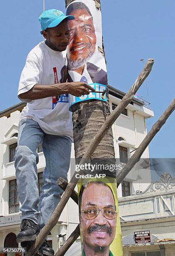
[[[66,8],[66,15],[75,16],[69,20],[70,41],[67,47],[68,82],[85,82],[96,91],[89,95],[69,95],[69,107],[84,100],[107,101],[102,93],[107,86],[107,70],[102,52],[101,12],[94,0],[75,0]]]

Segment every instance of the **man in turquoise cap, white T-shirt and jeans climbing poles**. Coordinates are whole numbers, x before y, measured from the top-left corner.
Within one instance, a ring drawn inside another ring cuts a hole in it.
[[[17,236],[21,246],[30,246],[47,223],[62,190],[56,184],[59,177],[67,179],[72,142],[72,120],[64,94],[85,95],[92,90],[82,82],[60,84],[60,70],[65,65],[70,39],[68,21],[61,11],[51,9],[40,15],[41,34],[45,41],[28,54],[20,77],[18,97],[28,102],[20,117],[15,169],[22,211],[21,231]],[[42,142],[46,166],[43,172],[42,194],[38,194],[37,146]],[[45,242],[40,253],[54,255]]]

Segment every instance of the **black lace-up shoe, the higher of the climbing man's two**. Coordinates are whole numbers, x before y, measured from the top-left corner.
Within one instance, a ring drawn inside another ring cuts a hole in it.
[[[32,220],[25,219],[21,223],[21,231],[17,235],[17,243],[25,241],[35,241],[40,232],[39,225],[35,224]],[[23,246],[22,246],[23,247]]]

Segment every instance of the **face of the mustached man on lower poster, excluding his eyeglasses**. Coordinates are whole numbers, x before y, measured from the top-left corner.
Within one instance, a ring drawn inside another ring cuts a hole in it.
[[[112,192],[102,184],[89,184],[82,193],[81,211],[85,208],[95,206],[98,209],[103,207],[114,207],[115,202]],[[90,248],[109,247],[115,238],[117,216],[113,220],[106,219],[102,212],[92,220],[87,220],[85,214],[80,214],[83,244]]]

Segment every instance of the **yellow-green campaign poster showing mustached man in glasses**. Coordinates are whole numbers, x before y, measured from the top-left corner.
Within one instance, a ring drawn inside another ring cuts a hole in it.
[[[78,182],[82,256],[122,256],[116,179]]]

